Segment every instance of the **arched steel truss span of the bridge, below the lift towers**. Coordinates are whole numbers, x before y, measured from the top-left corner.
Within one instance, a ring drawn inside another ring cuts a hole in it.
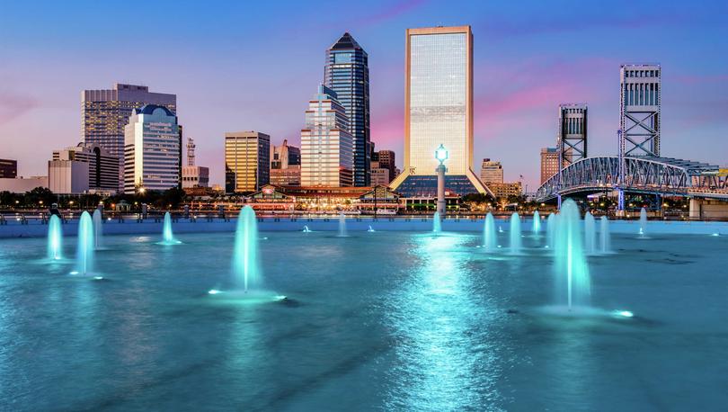
[[[586,157],[564,167],[537,190],[537,202],[561,196],[617,191],[728,201],[726,176],[718,166],[670,157]]]

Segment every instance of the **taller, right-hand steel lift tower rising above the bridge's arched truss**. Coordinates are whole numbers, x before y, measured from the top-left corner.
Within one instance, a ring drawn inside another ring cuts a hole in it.
[[[619,70],[620,150],[625,156],[660,157],[660,65],[623,65]]]

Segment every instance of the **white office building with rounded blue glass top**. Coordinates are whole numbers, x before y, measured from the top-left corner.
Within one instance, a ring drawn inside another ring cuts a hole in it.
[[[182,140],[174,112],[156,104],[134,109],[124,135],[124,193],[180,186]]]

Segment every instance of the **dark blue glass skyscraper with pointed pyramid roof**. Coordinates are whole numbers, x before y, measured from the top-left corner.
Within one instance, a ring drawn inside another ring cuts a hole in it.
[[[326,50],[324,84],[336,93],[346,109],[354,155],[354,186],[370,183],[369,67],[367,52],[351,34]]]

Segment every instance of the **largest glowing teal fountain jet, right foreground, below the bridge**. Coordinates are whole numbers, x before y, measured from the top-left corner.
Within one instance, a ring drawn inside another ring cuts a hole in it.
[[[557,290],[565,291],[565,303],[570,312],[575,307],[588,307],[590,300],[589,267],[582,249],[581,221],[579,207],[573,200],[566,200],[555,228],[554,267]]]

